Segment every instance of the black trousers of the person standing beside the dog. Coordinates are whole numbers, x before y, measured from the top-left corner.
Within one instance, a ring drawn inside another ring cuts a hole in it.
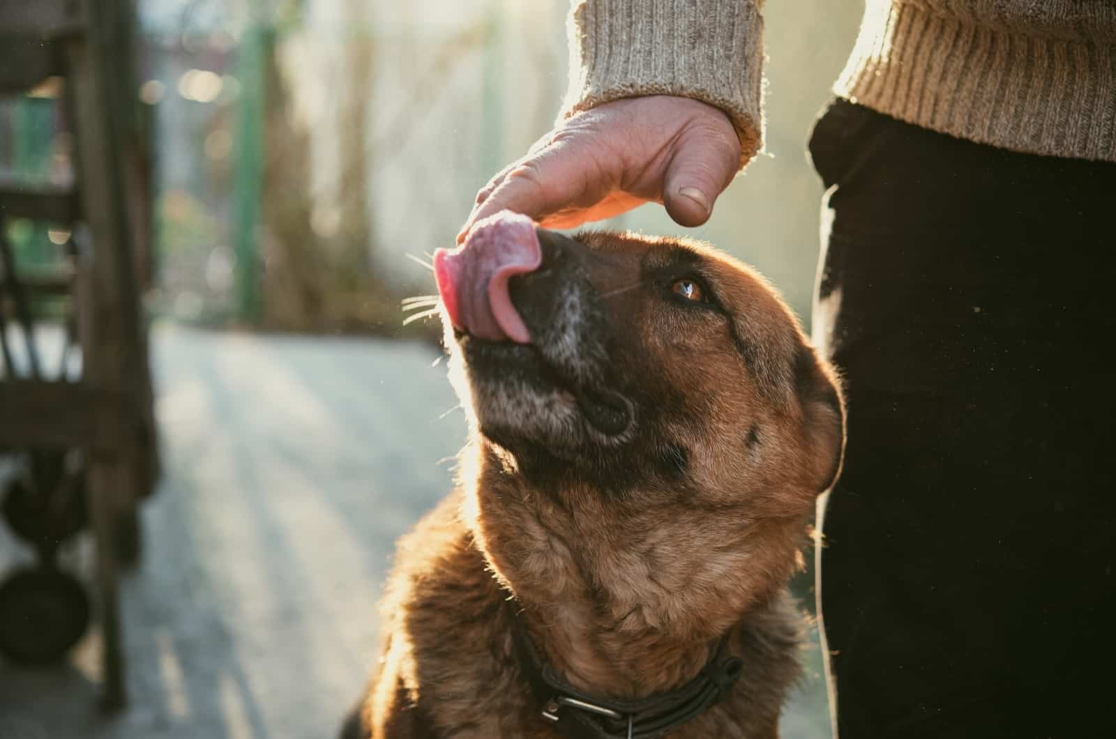
[[[1116,736],[1116,165],[844,100],[810,153],[848,402],[819,555],[840,739]]]

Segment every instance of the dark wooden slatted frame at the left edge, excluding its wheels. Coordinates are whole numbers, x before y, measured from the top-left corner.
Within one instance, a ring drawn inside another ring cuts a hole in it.
[[[122,55],[133,50],[131,13],[127,0],[0,0],[0,95],[21,95],[60,77],[76,152],[70,183],[29,186],[0,179],[0,334],[6,323],[32,330],[33,295],[66,296],[81,356],[77,380],[45,376],[33,345],[27,372],[17,373],[8,357],[0,376],[0,449],[79,450],[85,460],[106,709],[125,703],[118,573],[122,559],[137,555],[137,500],[156,477],[141,306],[150,246],[136,227],[147,198],[135,166],[143,161],[141,146],[123,113],[136,87],[121,74]],[[21,272],[2,238],[11,218],[70,230],[70,263],[33,279]],[[6,356],[16,351],[0,349]]]

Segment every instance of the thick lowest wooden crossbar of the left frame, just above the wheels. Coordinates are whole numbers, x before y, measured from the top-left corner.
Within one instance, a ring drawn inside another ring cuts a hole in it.
[[[127,439],[124,399],[87,385],[0,378],[0,447],[113,452]]]

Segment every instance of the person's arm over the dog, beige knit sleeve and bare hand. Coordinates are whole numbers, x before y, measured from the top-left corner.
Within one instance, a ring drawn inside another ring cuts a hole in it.
[[[477,196],[459,234],[500,210],[568,228],[663,203],[683,225],[762,140],[762,0],[581,0],[556,127]]]

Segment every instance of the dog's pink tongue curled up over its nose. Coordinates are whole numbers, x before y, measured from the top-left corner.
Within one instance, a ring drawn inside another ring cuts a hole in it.
[[[434,252],[434,278],[456,328],[478,338],[529,344],[531,335],[511,304],[508,280],[541,263],[533,221],[500,211],[478,221],[461,247]]]

